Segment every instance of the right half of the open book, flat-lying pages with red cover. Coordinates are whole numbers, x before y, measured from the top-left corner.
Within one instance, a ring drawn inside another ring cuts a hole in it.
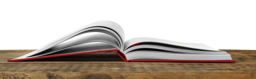
[[[227,52],[205,44],[147,37],[126,41],[121,53],[131,62],[235,62]]]

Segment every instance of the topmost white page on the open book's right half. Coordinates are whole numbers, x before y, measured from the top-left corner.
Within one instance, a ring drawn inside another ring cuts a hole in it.
[[[201,43],[183,43],[183,42],[176,42],[176,41],[149,38],[149,37],[138,37],[138,38],[127,40],[124,43],[124,50],[126,50],[128,47],[132,46],[133,44],[142,43],[142,42],[164,43],[164,44],[170,44],[170,45],[182,46],[182,47],[188,47],[188,48],[194,48],[194,49],[220,51]]]

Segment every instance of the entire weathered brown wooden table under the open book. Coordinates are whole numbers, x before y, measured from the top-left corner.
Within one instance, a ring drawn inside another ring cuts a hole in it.
[[[7,62],[33,50],[0,50],[0,79],[254,78],[256,50],[223,50],[235,63],[124,62],[114,52]]]

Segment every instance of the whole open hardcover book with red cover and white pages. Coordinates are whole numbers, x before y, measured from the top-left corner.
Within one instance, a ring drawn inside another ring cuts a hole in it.
[[[70,40],[91,32],[98,33]],[[124,30],[112,21],[91,23],[8,62],[109,51],[116,51],[126,62],[235,62],[227,52],[200,43],[148,37],[124,42]]]

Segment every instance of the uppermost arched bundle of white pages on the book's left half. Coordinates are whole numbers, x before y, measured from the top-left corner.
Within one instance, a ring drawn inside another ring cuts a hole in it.
[[[66,41],[66,40],[69,40],[74,36],[80,35],[82,33],[87,33],[87,32],[107,33],[107,34],[113,36],[120,43],[120,50],[124,49],[123,48],[124,47],[124,30],[122,29],[122,27],[112,21],[98,21],[98,22],[91,23],[87,26],[84,26],[80,29],[77,29],[65,36],[62,36],[61,38],[56,39],[56,40],[46,44],[45,46],[41,47],[39,50],[35,50],[31,53],[28,53],[28,54],[18,57],[18,58],[24,58],[24,57],[28,57],[28,56],[40,53],[42,51],[50,49],[51,47]]]

